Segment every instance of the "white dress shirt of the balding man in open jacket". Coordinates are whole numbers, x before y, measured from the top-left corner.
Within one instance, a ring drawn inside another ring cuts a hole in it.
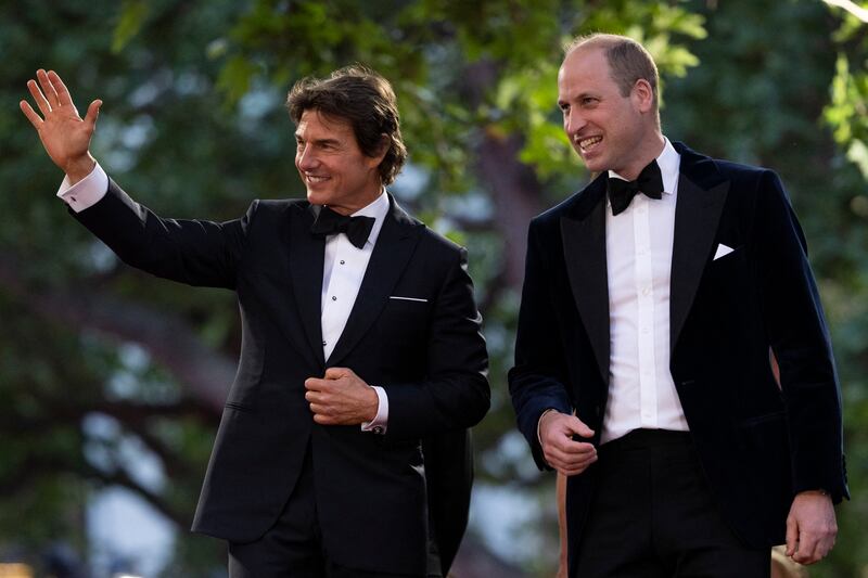
[[[640,427],[688,431],[669,372],[669,278],[681,157],[666,139],[656,160],[662,198],[637,194],[617,216],[607,201],[611,354],[602,444]]]

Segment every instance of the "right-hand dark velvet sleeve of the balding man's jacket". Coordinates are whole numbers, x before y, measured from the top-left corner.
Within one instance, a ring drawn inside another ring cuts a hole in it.
[[[824,489],[838,502],[850,497],[841,389],[804,234],[771,171],[761,177],[756,226],[761,299],[780,367],[793,490]]]

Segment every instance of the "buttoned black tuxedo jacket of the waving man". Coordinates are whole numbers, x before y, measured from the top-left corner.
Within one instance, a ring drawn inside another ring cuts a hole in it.
[[[242,351],[193,529],[234,542],[278,518],[312,452],[324,548],[336,564],[425,570],[429,502],[448,566],[467,521],[465,428],[489,406],[485,342],[464,249],[391,210],[328,362],[320,295],[324,240],[306,201],[255,201],[224,223],[162,219],[114,182],[76,215],[125,262],[191,285],[234,290]],[[396,299],[411,297],[417,300]],[[347,367],[388,396],[385,435],[312,420],[304,381]],[[438,470],[429,476],[421,439]],[[439,451],[437,451],[439,450]],[[448,508],[448,510],[444,510]]]

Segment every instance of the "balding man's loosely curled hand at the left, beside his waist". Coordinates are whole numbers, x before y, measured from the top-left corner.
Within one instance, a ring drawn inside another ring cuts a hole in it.
[[[575,415],[550,411],[539,420],[539,441],[546,462],[565,476],[580,474],[597,461],[597,448],[573,436],[591,437],[593,429]]]

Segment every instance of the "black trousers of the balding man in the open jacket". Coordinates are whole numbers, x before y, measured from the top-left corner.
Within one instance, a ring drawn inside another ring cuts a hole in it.
[[[573,578],[766,578],[714,503],[690,434],[637,429],[598,451],[597,492]]]

